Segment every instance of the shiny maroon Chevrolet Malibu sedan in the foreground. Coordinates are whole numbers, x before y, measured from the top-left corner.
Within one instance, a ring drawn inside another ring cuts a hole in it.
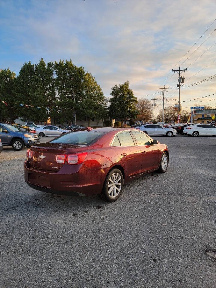
[[[69,132],[27,150],[26,183],[37,190],[101,194],[113,202],[124,183],[167,170],[167,146],[132,128],[89,128]]]

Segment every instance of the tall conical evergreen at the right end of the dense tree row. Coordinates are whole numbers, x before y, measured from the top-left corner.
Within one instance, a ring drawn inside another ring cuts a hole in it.
[[[82,85],[82,98],[77,109],[80,119],[87,117],[88,126],[92,118],[101,119],[107,116],[107,100],[95,77],[86,73]]]

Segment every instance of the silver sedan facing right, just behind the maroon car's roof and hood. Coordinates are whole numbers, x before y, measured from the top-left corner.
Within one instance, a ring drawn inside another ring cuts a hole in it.
[[[166,128],[158,124],[144,124],[137,129],[145,132],[149,135],[166,135],[167,137],[172,137],[177,134],[177,130],[173,128]]]

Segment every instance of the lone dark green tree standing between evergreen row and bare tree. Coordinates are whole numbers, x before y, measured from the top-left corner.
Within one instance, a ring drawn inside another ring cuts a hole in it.
[[[129,88],[129,82],[124,84],[115,85],[112,88],[110,98],[109,112],[113,118],[120,118],[122,121],[125,118],[135,118],[138,114],[136,103],[137,97],[134,96],[134,92]]]

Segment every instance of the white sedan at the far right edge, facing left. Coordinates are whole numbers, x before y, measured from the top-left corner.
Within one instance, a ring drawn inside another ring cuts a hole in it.
[[[193,124],[184,127],[183,133],[197,137],[199,135],[216,135],[216,126],[210,124]]]

